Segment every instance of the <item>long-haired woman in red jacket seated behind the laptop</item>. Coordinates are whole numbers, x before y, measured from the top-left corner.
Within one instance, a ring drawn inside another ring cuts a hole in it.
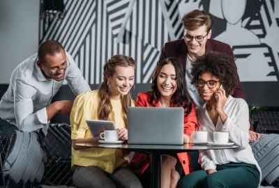
[[[183,107],[183,142],[189,143],[189,136],[197,127],[195,104],[186,90],[186,81],[181,63],[176,58],[158,62],[152,77],[151,91],[137,95],[137,107]],[[171,130],[172,127],[169,127]],[[141,175],[144,187],[149,187],[150,156],[135,153],[130,162],[133,170]],[[161,187],[176,187],[180,176],[189,173],[186,152],[177,155],[163,155],[161,165]]]

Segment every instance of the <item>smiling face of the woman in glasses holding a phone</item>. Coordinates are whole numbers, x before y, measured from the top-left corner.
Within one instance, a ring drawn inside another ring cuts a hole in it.
[[[206,81],[207,84],[205,83]],[[213,99],[214,93],[216,93],[217,89],[220,87],[220,80],[210,72],[204,72],[199,76],[199,82],[205,83],[204,86],[198,87],[199,95],[202,99],[205,101]],[[216,86],[214,86],[214,84],[216,84]]]

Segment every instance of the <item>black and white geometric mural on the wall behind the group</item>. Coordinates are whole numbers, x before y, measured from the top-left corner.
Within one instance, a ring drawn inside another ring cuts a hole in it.
[[[277,0],[64,0],[64,3],[63,19],[40,19],[40,42],[59,40],[93,86],[102,81],[107,58],[125,54],[137,61],[136,84],[148,89],[161,48],[165,42],[183,38],[181,17],[199,9],[214,17],[212,38],[231,45],[248,103],[279,106]]]

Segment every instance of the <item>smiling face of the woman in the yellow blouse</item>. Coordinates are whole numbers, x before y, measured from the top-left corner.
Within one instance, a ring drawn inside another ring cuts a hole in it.
[[[135,67],[121,67],[115,68],[114,75],[108,77],[110,83],[110,98],[112,100],[119,100],[121,95],[127,95],[130,88],[134,85]]]

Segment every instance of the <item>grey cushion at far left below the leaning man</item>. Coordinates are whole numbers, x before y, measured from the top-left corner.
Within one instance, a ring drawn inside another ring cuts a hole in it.
[[[17,184],[23,182],[40,182],[45,171],[44,150],[40,147],[36,132],[20,132],[15,130],[10,144],[8,154],[3,165],[4,175]]]

